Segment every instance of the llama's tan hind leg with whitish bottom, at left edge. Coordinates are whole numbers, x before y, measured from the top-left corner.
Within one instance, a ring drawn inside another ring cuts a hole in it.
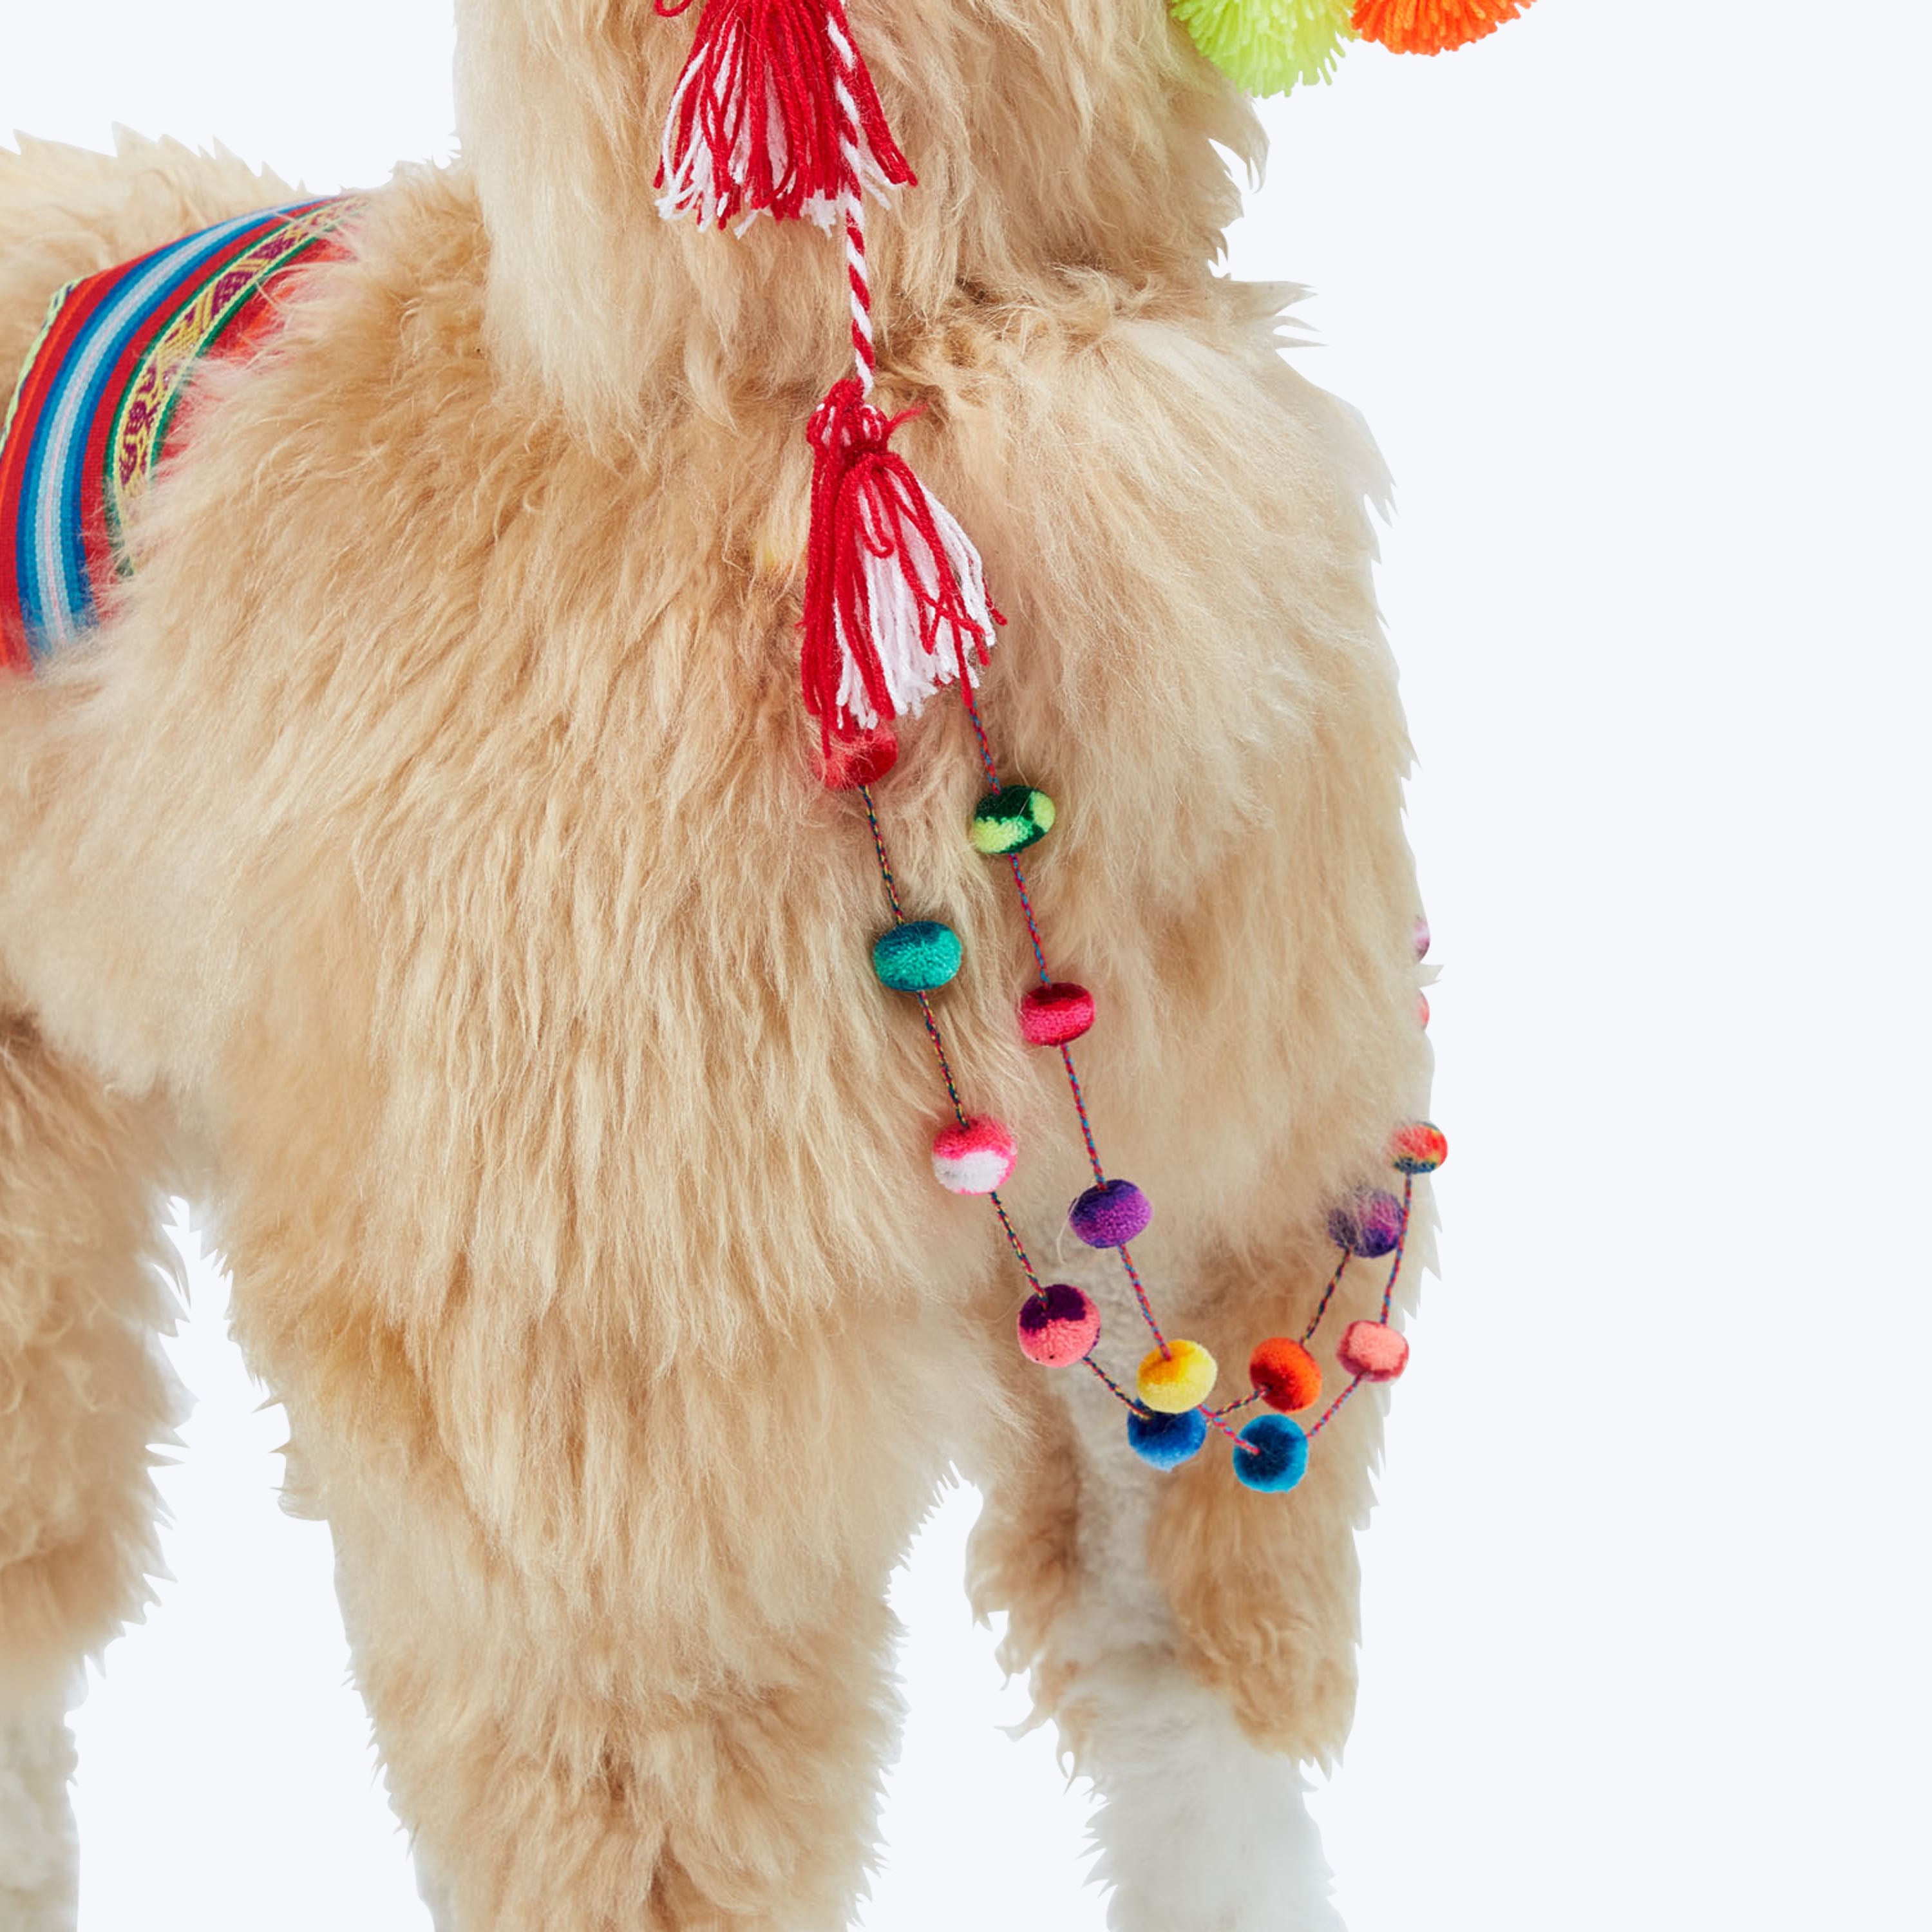
[[[0,1924],[70,1932],[66,1712],[158,1569],[172,1250],[139,1105],[0,1014]]]

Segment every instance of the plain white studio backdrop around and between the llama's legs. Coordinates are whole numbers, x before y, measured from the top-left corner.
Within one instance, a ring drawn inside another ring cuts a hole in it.
[[[641,0],[639,0],[641,4]],[[0,0],[0,128],[448,155],[444,0]],[[1835,31],[1832,31],[1835,29]],[[1928,357],[1915,0],[1538,0],[1267,108],[1233,269],[1397,477],[1445,1281],[1316,1799],[1354,1932],[1928,1924]],[[85,1932],[423,1932],[327,1534],[193,1275],[176,1582],[81,1716]],[[958,1573],[871,1932],[1099,1932]],[[1177,1928],[1192,1932],[1192,1928]]]

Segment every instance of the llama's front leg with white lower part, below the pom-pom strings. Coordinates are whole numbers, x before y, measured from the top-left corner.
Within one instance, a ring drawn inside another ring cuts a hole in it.
[[[1321,1298],[1333,1252],[1320,1229],[1304,1236],[1265,1267],[1213,1258],[1173,1271],[1200,1283],[1186,1331],[1236,1374],[1256,1337],[1300,1333]],[[1418,1269],[1428,1250],[1424,1202]],[[1084,1285],[1107,1296],[1105,1265]],[[1378,1298],[1379,1277],[1356,1269],[1327,1321],[1339,1331]],[[981,1611],[1009,1613],[1005,1662],[1032,1673],[1041,1714],[1094,1781],[1109,1922],[1339,1932],[1302,1766],[1333,1762],[1352,1716],[1354,1530],[1379,1397],[1337,1412],[1289,1495],[1235,1482],[1225,1443],[1179,1470],[1146,1466],[1117,1405],[1094,1397],[1084,1379],[1014,1372],[1034,1449],[987,1472],[974,1594]]]

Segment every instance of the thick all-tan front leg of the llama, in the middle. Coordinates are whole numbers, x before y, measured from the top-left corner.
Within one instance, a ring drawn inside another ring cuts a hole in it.
[[[493,1327],[276,1364],[439,1932],[842,1932],[937,1453],[850,1426],[831,1316],[728,1368]],[[864,1339],[873,1370],[916,1345]]]

